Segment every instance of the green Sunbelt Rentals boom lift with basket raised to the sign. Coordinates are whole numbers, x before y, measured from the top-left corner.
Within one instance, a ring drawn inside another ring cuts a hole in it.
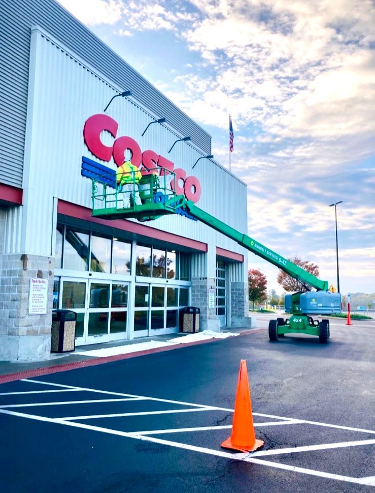
[[[130,201],[130,207],[122,208],[124,193],[121,187],[113,188],[100,178],[92,179],[92,215],[106,219],[129,219],[149,221],[165,214],[181,214],[196,219],[216,229],[219,233],[236,241],[239,245],[259,255],[272,265],[298,279],[308,290],[285,296],[285,311],[290,318],[271,320],[268,335],[271,341],[289,333],[310,334],[319,337],[320,342],[329,341],[329,320],[315,321],[311,315],[340,313],[341,295],[328,291],[328,282],[322,281],[304,269],[290,262],[278,253],[265,247],[253,238],[240,233],[214,216],[202,211],[183,195],[176,195],[174,173],[158,176],[160,168],[150,170],[140,182],[142,205]],[[134,196],[133,190],[132,196]],[[316,291],[310,291],[310,286]]]

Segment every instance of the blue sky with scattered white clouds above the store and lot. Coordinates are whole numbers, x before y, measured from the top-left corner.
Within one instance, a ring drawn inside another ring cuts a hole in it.
[[[212,135],[248,187],[248,234],[375,292],[375,5],[370,0],[59,0]],[[277,283],[278,269],[249,254]]]

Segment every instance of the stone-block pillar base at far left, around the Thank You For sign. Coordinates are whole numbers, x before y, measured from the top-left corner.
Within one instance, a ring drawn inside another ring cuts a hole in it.
[[[48,359],[51,352],[54,258],[20,253],[3,253],[0,257],[0,359]],[[48,279],[47,314],[29,315],[30,279],[38,277]]]

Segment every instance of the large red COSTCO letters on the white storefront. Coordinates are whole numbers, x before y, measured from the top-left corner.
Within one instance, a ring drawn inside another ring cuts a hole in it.
[[[142,152],[137,141],[131,137],[117,137],[118,123],[107,114],[94,114],[89,117],[83,127],[83,138],[89,151],[102,161],[110,161],[113,157],[117,166],[124,162],[126,150],[131,153],[131,162],[136,166],[142,164],[142,175],[149,175],[152,169],[160,167],[160,175],[164,175],[164,170],[173,171],[176,175],[176,194],[184,194],[188,200],[197,202],[201,194],[199,180],[194,176],[187,176],[182,168],[175,168],[175,163],[160,156],[154,151],[147,150]],[[100,139],[103,131],[109,132],[115,139],[112,146],[105,146]],[[182,185],[180,185],[182,184]],[[172,184],[173,186],[173,184]]]

